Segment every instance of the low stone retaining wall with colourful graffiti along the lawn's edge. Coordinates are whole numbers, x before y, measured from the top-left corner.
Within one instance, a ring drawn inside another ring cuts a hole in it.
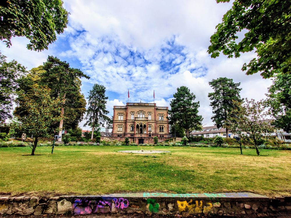
[[[43,214],[251,214],[291,212],[291,197],[242,193],[135,193],[102,196],[0,196],[0,215]]]

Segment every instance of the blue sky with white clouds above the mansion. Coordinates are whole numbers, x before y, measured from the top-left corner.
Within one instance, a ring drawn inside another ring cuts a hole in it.
[[[27,70],[38,67],[48,55],[57,56],[81,69],[91,78],[82,79],[81,91],[88,96],[95,83],[106,87],[107,109],[129,102],[152,103],[155,90],[157,106],[168,106],[177,88],[184,85],[200,102],[203,125],[212,126],[209,81],[218,77],[241,83],[242,98],[264,99],[270,79],[260,74],[245,75],[241,68],[256,56],[240,58],[224,55],[211,58],[207,53],[210,36],[232,6],[215,0],[118,1],[65,0],[70,12],[64,33],[48,50],[26,49],[29,41],[15,37],[12,47],[0,42],[7,60],[17,60]],[[80,123],[83,127],[85,121]]]

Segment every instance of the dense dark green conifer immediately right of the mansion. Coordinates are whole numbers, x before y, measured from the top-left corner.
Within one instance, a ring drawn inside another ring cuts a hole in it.
[[[189,138],[189,132],[192,129],[202,129],[201,115],[198,115],[199,101],[194,102],[196,96],[190,93],[189,88],[181,86],[177,88],[177,92],[173,95],[174,99],[171,101],[171,110],[169,114],[169,124],[178,124],[184,128],[186,135]]]

